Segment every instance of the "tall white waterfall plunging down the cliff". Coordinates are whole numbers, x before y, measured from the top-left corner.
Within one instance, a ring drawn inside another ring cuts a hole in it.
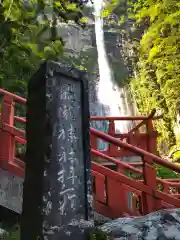
[[[94,1],[95,35],[100,75],[97,95],[98,101],[101,103],[101,106],[99,107],[99,109],[97,109],[97,115],[117,117],[127,116],[131,115],[126,96],[127,93],[124,88],[119,88],[118,85],[115,83],[106,53],[103,31],[103,18],[101,17],[103,3],[103,0]],[[128,132],[131,128],[131,125],[132,123],[128,121],[116,121],[116,132]],[[102,126],[104,126],[104,124]],[[99,130],[107,131],[107,126],[106,129]],[[107,148],[107,144],[103,143],[102,141],[99,142],[99,145],[101,145],[99,146],[100,149]]]

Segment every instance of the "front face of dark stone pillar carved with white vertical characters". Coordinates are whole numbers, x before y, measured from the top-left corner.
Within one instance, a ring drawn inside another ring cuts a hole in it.
[[[45,186],[49,189],[43,198],[44,236],[50,237],[49,229],[56,229],[59,238],[69,239],[75,234],[80,240],[85,237],[80,225],[88,221],[91,209],[91,182],[86,177],[91,169],[84,158],[83,124],[85,117],[88,121],[88,115],[83,115],[83,86],[81,81],[66,76],[60,79],[50,76],[47,81],[51,89],[46,96],[51,99],[47,112],[52,127],[52,148],[47,161],[50,164],[44,171]]]

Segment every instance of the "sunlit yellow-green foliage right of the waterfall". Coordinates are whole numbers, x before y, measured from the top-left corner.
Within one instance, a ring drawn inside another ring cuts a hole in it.
[[[174,125],[180,113],[180,3],[176,0],[116,0],[114,12],[120,23],[133,19],[137,29],[144,29],[136,40],[138,61],[136,77],[131,88],[139,111],[149,113],[153,108],[163,113],[155,123],[159,150],[167,153],[177,144]],[[115,6],[115,3],[112,4]],[[122,11],[124,10],[124,11]]]

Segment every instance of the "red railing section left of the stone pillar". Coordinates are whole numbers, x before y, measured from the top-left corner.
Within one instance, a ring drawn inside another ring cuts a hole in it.
[[[24,164],[15,158],[16,144],[25,144],[25,132],[16,128],[15,122],[22,122],[22,118],[15,116],[17,103],[25,104],[26,99],[0,89],[3,95],[0,114],[0,168],[12,173],[23,175]]]

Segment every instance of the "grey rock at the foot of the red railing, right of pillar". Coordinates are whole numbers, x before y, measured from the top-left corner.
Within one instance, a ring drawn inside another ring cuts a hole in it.
[[[180,209],[111,220],[99,227],[99,230],[111,240],[180,240]]]

